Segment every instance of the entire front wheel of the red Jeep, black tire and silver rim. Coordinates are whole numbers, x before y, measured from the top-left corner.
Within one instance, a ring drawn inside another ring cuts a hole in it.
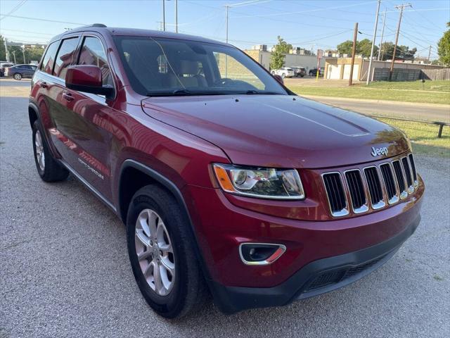
[[[136,283],[156,313],[179,318],[205,302],[207,287],[195,256],[193,234],[172,194],[156,185],[134,194],[127,215],[127,244]]]

